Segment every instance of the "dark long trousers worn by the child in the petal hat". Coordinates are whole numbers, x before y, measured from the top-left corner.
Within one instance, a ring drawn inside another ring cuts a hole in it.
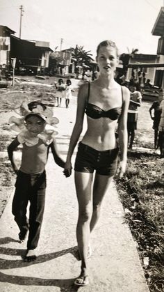
[[[38,246],[44,213],[45,189],[45,171],[35,175],[18,172],[12,213],[22,234],[26,234],[29,229],[27,249],[35,249]],[[30,201],[29,221],[26,217],[28,201]]]

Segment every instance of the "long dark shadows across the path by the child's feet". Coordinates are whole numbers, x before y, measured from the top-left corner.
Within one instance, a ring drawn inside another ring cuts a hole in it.
[[[0,238],[0,244],[8,244],[11,242],[19,242],[13,238]],[[7,254],[10,256],[21,256],[21,260],[6,260],[0,259],[0,269],[7,270],[12,268],[23,268],[26,266],[35,265],[38,263],[43,263],[45,261],[51,261],[52,259],[56,259],[59,256],[63,256],[65,254],[71,253],[77,260],[78,257],[78,249],[77,247],[70,247],[68,249],[63,249],[60,252],[52,252],[50,254],[42,254],[37,257],[37,259],[33,262],[24,262],[22,261],[25,250],[24,249],[11,249],[8,247],[0,247],[0,254]],[[24,277],[17,275],[6,275],[3,272],[0,272],[0,282],[7,282],[10,284],[24,285],[24,286],[57,286],[60,288],[61,292],[76,292],[79,290],[79,287],[74,285],[74,279],[40,279],[38,277]]]

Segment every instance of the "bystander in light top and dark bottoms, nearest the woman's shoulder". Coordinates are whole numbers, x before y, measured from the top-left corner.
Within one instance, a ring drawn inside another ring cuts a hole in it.
[[[129,149],[132,149],[133,140],[135,137],[135,130],[137,130],[137,120],[138,120],[138,107],[141,105],[142,95],[139,91],[136,91],[136,86],[129,86],[131,91],[131,98],[128,109],[128,121],[127,121],[127,130],[128,130],[128,141]]]

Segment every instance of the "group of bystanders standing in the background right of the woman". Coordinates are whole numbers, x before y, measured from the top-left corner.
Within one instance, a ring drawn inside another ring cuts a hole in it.
[[[133,70],[131,79],[127,81],[126,72],[123,75],[117,75],[116,81],[129,88],[131,91],[130,104],[128,109],[128,139],[129,149],[132,149],[137,130],[138,107],[141,105],[142,89],[151,89],[150,79],[146,79],[145,72]],[[158,91],[158,100],[154,101],[149,109],[149,114],[153,122],[154,129],[154,148],[160,150],[160,157],[164,157],[164,89]]]

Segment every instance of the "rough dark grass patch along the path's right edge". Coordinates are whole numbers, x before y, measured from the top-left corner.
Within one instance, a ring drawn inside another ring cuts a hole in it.
[[[117,191],[151,292],[164,291],[164,174],[156,155],[129,153]]]

